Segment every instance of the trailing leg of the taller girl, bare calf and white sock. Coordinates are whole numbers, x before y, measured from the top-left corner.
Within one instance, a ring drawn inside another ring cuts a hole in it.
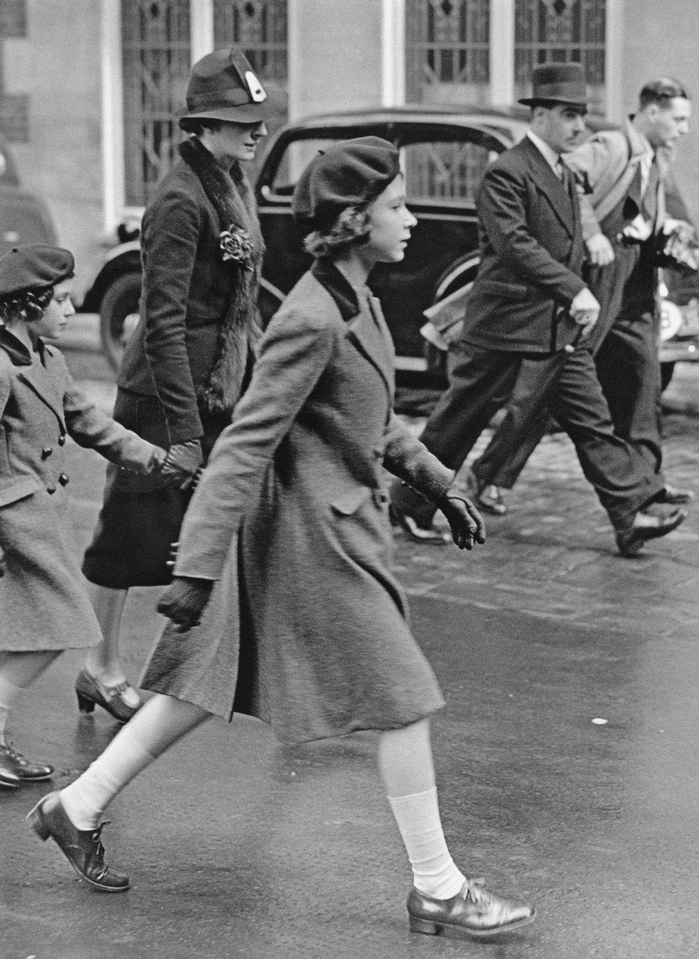
[[[79,830],[94,830],[111,800],[177,739],[211,713],[172,696],[155,695],[136,713],[82,776],[60,792]]]

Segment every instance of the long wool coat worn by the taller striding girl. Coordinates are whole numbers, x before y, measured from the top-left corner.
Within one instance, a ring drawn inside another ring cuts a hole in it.
[[[185,517],[175,574],[217,580],[212,601],[187,634],[166,627],[146,689],[258,715],[287,742],[443,705],[387,570],[382,463],[435,500],[453,474],[395,418],[393,362],[378,301],[360,307],[316,264],[269,324]]]

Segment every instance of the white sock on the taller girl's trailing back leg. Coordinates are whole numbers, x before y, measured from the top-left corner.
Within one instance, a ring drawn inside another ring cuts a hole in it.
[[[128,725],[74,783],[60,791],[60,803],[77,830],[96,830],[102,813],[125,785],[155,757]]]

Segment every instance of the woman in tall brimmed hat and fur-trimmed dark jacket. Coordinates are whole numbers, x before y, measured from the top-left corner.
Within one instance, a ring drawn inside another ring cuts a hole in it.
[[[267,93],[238,47],[195,64],[187,86],[188,138],[143,218],[140,323],[118,376],[114,417],[170,448],[194,478],[245,386],[258,335],[263,241],[244,173],[265,136]],[[83,573],[104,642],[90,649],[76,690],[126,722],[141,705],[119,660],[131,586],[170,582],[171,550],[190,482],[107,473],[105,502]]]

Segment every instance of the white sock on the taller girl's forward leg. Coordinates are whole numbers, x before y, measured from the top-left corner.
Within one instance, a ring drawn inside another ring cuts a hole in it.
[[[436,786],[412,796],[388,796],[388,802],[406,845],[415,888],[435,899],[451,899],[466,879],[447,849]]]

